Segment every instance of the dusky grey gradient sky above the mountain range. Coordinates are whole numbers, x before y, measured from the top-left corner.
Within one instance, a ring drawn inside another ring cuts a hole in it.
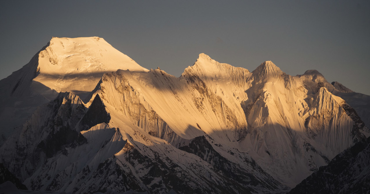
[[[0,1],[0,79],[52,36],[99,36],[180,76],[199,53],[253,71],[316,69],[370,95],[370,1]]]

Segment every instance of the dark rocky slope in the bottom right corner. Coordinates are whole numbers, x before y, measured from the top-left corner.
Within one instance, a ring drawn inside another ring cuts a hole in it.
[[[337,155],[289,193],[367,193],[370,190],[370,138]],[[314,186],[314,187],[313,187]]]

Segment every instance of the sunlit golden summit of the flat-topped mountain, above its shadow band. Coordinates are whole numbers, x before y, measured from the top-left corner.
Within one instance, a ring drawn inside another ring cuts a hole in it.
[[[117,69],[148,71],[97,36],[53,37],[48,46],[40,52],[38,62],[40,73],[47,74],[86,74]]]

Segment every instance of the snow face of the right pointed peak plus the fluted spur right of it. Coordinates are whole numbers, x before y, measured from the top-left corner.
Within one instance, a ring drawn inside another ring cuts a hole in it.
[[[292,77],[266,61],[246,81],[252,86],[241,105],[248,134],[240,150],[283,183],[294,186],[367,135],[369,129],[326,89],[333,86],[316,70]]]

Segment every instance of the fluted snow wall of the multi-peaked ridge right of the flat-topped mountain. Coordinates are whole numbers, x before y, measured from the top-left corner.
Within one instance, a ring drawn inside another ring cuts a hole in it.
[[[316,82],[310,86],[270,61],[250,73],[200,54],[180,78],[160,69],[105,74],[91,96],[99,94],[132,124],[175,147],[205,133],[223,151],[248,152],[294,186],[364,138],[344,100]]]

